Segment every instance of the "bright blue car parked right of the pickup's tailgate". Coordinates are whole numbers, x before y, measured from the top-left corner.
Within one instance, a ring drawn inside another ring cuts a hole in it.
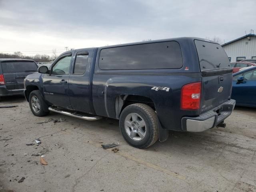
[[[256,107],[256,66],[234,73],[232,86],[236,105]]]

